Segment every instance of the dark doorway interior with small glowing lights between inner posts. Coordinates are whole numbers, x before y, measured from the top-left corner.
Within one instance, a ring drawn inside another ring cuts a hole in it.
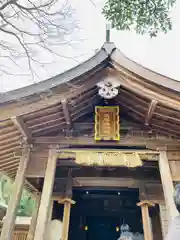
[[[69,240],[117,240],[123,223],[142,233],[141,211],[135,189],[75,189]]]

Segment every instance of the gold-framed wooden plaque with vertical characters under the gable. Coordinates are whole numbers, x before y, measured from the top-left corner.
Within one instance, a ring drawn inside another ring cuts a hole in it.
[[[119,133],[119,107],[96,106],[95,108],[95,140],[118,141]]]

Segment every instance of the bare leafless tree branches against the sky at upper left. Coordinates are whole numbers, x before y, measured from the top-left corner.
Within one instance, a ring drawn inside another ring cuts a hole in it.
[[[37,77],[34,64],[49,63],[48,58],[40,61],[38,53],[65,57],[55,46],[69,44],[68,37],[77,23],[68,2],[62,1],[0,0],[0,75],[9,72],[9,64],[5,68],[4,59],[18,67],[19,59],[24,58],[28,71]]]

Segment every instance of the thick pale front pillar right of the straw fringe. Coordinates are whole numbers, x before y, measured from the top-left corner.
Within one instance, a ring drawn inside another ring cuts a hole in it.
[[[174,195],[174,186],[171,176],[171,171],[169,167],[169,162],[167,158],[166,150],[160,150],[159,152],[159,170],[161,175],[161,182],[163,186],[165,203],[168,211],[169,220],[178,216],[178,211],[176,209],[173,195]]]

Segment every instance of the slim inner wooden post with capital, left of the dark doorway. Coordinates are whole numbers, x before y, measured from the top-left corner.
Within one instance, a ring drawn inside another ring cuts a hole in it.
[[[75,202],[69,198],[59,200],[58,202],[64,203],[64,214],[63,214],[63,226],[62,226],[61,240],[68,240],[71,204],[75,204]]]

